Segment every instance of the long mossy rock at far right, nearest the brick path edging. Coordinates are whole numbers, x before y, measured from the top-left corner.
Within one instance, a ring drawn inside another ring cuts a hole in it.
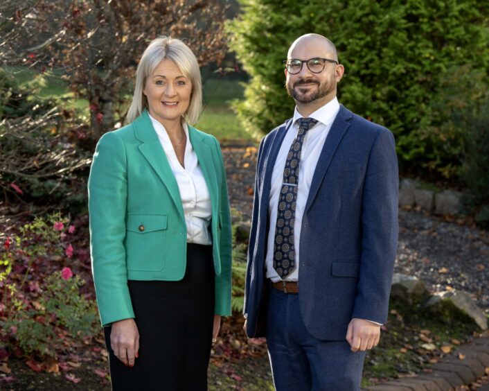
[[[482,330],[488,329],[488,320],[486,315],[474,303],[472,297],[462,290],[450,290],[450,292],[437,293],[432,296],[426,306],[434,311],[450,311],[463,314],[470,318]]]

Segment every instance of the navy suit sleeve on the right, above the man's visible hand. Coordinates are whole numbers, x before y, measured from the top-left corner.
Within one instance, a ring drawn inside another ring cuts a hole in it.
[[[362,256],[353,318],[384,324],[398,245],[398,159],[382,128],[373,143],[362,200]]]

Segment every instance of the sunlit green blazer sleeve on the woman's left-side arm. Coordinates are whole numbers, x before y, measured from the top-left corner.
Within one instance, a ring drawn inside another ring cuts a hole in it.
[[[125,260],[127,159],[121,137],[98,141],[89,182],[91,267],[103,326],[134,318]]]

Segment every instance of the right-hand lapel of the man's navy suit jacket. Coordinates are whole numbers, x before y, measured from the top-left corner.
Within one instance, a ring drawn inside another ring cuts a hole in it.
[[[314,198],[316,198],[317,191],[323,178],[328,171],[331,159],[339,146],[339,142],[343,138],[346,130],[350,127],[348,122],[351,119],[352,114],[350,110],[347,110],[344,106],[339,107],[339,112],[336,116],[335,121],[331,125],[330,132],[326,141],[324,141],[323,150],[321,150],[321,155],[319,155],[319,160],[317,161],[316,169],[314,170],[314,175],[312,175],[311,187],[309,189],[308,202],[305,204],[304,212],[308,211],[312,204]]]

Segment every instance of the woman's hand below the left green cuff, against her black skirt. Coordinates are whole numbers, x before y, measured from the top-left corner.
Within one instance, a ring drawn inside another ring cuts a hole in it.
[[[134,367],[134,360],[139,356],[139,331],[134,319],[112,323],[110,347],[119,360],[129,367]]]

